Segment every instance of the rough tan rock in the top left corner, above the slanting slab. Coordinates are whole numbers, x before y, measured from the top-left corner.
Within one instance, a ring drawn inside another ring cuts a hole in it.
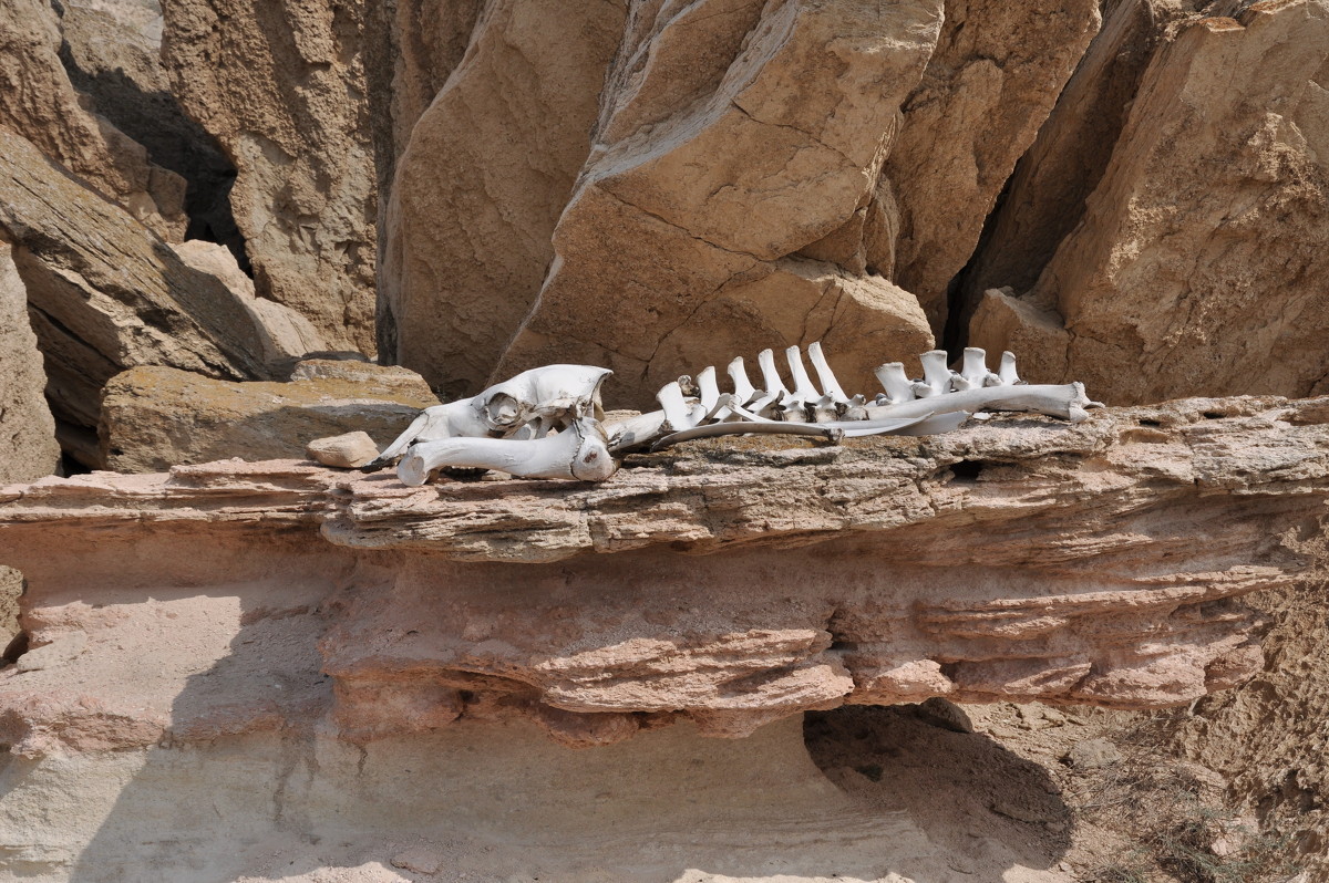
[[[116,201],[162,236],[185,231],[185,182],[146,149],[85,108],[60,61],[60,20],[44,0],[0,3],[0,126]]]

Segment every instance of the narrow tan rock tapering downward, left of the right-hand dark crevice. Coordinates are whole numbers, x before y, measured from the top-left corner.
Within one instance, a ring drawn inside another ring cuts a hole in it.
[[[1098,7],[946,3],[937,52],[904,105],[884,170],[900,211],[893,279],[918,296],[938,336],[950,280],[1098,32]]]

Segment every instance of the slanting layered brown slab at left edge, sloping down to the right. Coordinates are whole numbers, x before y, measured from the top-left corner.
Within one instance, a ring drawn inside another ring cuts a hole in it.
[[[280,368],[263,357],[282,329],[266,329],[225,281],[5,129],[0,230],[13,242],[61,442],[88,465],[100,465],[101,388],[121,370],[167,365],[241,380]]]

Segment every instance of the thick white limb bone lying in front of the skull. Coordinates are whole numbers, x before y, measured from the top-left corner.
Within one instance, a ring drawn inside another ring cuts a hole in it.
[[[581,417],[544,438],[443,438],[412,445],[397,465],[403,485],[419,486],[440,469],[494,469],[517,478],[605,481],[618,469],[605,430]]]

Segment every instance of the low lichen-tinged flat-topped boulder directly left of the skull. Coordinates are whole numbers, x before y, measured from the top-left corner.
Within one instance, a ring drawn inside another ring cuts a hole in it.
[[[419,374],[364,362],[310,360],[291,382],[247,384],[133,368],[106,384],[98,434],[109,469],[152,473],[230,457],[300,458],[311,441],[356,429],[387,445],[437,404]]]

